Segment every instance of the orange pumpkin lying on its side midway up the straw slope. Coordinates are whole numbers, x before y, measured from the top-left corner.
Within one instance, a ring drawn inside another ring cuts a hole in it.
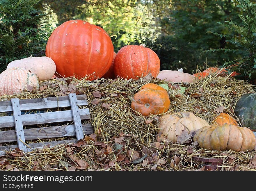
[[[169,107],[167,91],[154,83],[143,85],[131,101],[131,108],[143,116],[164,113]]]

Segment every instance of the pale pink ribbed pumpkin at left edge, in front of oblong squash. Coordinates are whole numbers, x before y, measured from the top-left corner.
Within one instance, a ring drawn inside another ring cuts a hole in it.
[[[37,76],[24,68],[6,69],[0,74],[0,96],[19,94],[27,88],[27,84],[38,90]]]

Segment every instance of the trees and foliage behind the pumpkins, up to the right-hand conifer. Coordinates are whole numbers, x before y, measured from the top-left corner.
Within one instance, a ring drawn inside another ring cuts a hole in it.
[[[243,8],[237,5],[235,0],[0,0],[0,70],[12,60],[45,56],[53,29],[71,19],[104,28],[115,52],[127,44],[146,44],[159,56],[161,70],[195,73],[205,63],[220,67],[246,55],[206,51],[237,48],[226,37],[243,36],[218,24],[241,25]]]

